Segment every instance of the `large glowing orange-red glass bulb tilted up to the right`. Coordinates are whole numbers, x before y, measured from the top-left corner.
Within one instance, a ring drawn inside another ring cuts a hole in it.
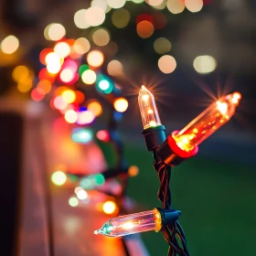
[[[189,152],[206,140],[209,135],[215,133],[235,113],[240,98],[240,93],[234,92],[212,103],[184,129],[173,135],[178,147]]]

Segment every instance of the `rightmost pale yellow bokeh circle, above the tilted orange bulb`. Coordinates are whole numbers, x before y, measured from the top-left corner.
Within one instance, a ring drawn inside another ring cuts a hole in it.
[[[193,66],[198,73],[208,74],[216,69],[217,62],[213,57],[209,55],[203,55],[194,59]]]

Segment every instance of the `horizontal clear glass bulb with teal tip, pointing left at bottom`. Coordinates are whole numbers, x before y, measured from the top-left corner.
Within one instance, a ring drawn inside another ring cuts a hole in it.
[[[108,237],[120,237],[150,230],[158,232],[161,227],[161,214],[154,208],[153,210],[109,219],[101,229],[95,230],[94,234],[101,234]]]

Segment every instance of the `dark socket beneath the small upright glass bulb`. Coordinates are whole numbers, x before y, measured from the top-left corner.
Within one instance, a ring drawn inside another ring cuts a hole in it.
[[[143,131],[144,141],[148,151],[153,151],[166,139],[165,126],[160,124],[155,127],[147,128]]]

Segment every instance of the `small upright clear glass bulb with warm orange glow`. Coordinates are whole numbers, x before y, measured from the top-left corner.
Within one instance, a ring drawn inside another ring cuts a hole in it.
[[[155,106],[154,95],[142,85],[138,96],[140,112],[144,130],[150,127],[161,125],[159,114]]]

